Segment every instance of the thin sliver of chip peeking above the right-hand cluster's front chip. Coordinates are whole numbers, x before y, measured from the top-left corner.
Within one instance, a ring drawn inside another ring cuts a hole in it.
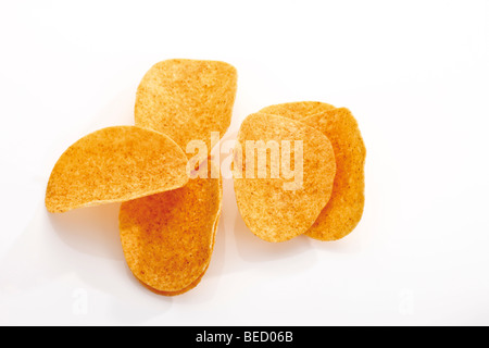
[[[262,110],[260,110],[260,112],[299,121],[312,116],[318,112],[324,112],[333,109],[335,109],[334,105],[321,101],[294,101],[269,105],[263,108]]]

